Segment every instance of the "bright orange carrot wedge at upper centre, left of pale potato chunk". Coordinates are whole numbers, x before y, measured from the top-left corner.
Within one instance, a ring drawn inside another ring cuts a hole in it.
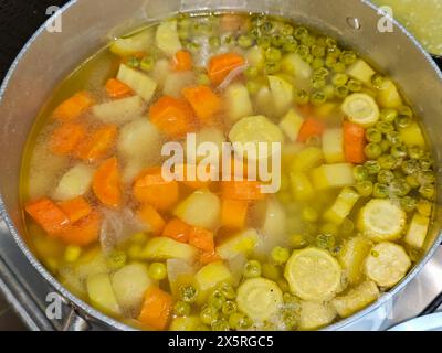
[[[208,86],[187,87],[182,95],[203,124],[211,124],[213,116],[221,110],[221,99]]]

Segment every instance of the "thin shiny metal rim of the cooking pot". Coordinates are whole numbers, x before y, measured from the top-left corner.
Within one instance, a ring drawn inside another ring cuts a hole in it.
[[[369,0],[359,0],[362,4],[367,6],[367,8],[370,11],[379,11],[379,8],[376,7],[373,3],[371,3]],[[70,0],[65,6],[63,6],[60,9],[59,13],[63,13],[67,11],[71,7],[73,7],[77,0]],[[223,9],[225,11],[227,9]],[[27,44],[22,47],[15,60],[13,61],[11,67],[9,68],[7,75],[4,76],[4,79],[0,86],[0,103],[3,99],[4,92],[8,88],[8,84],[13,75],[13,73],[17,69],[17,66],[21,58],[24,56],[24,54],[28,52],[29,47],[33,44],[36,38],[45,30],[46,24],[52,20],[52,18],[48,19],[36,31],[35,33],[29,39]],[[441,84],[442,84],[442,73],[439,69],[438,65],[431,58],[430,54],[425,52],[423,49],[422,44],[418,42],[418,40],[401,24],[399,23],[394,18],[391,19],[394,26],[398,28],[400,31],[402,31],[410,42],[414,44],[421,54],[425,57],[427,62],[430,64],[430,66],[433,67],[435,71],[436,75],[439,76]],[[21,252],[24,254],[24,256],[28,258],[28,260],[31,263],[31,265],[38,270],[38,272],[45,279],[45,281],[53,287],[63,298],[67,299],[70,304],[74,307],[74,309],[80,309],[83,313],[86,315],[86,320],[88,318],[92,318],[94,320],[97,320],[99,322],[104,322],[105,324],[117,329],[122,331],[134,331],[136,329],[122,323],[120,321],[117,321],[113,318],[109,318],[108,315],[102,313],[101,311],[94,309],[92,306],[87,304],[80,298],[75,297],[73,293],[71,293],[64,286],[62,286],[59,280],[53,277],[46,268],[36,259],[36,257],[33,255],[33,253],[29,249],[28,245],[23,240],[23,238],[20,236],[19,232],[15,229],[15,226],[13,225],[13,222],[9,215],[9,213],[6,210],[3,199],[0,194],[0,215],[3,218],[4,223],[8,226],[9,232],[13,236],[17,245],[21,249]],[[430,260],[430,258],[434,255],[435,250],[439,248],[441,242],[442,242],[442,229],[438,231],[438,236],[434,239],[433,245],[430,247],[430,249],[427,252],[427,255],[417,264],[410,272],[407,274],[407,276],[391,290],[388,292],[382,293],[382,296],[372,304],[368,306],[367,308],[358,311],[357,313],[352,314],[351,317],[340,320],[336,323],[333,323],[323,330],[325,331],[335,331],[335,330],[340,330],[345,329],[345,327],[354,323],[357,320],[360,320],[368,313],[373,312],[376,309],[391,300],[396,295],[398,295],[415,276],[419,274],[422,268],[425,266],[425,264]],[[80,314],[81,315],[81,314]],[[82,315],[81,315],[82,317]]]

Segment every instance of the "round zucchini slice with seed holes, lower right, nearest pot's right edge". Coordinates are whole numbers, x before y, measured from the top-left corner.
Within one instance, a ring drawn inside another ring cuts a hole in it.
[[[411,267],[403,247],[394,243],[379,243],[365,264],[366,275],[380,287],[393,287]]]

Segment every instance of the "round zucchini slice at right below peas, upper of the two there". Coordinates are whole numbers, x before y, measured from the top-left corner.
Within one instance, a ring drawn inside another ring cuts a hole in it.
[[[358,218],[358,229],[375,242],[399,239],[406,224],[406,212],[391,200],[369,201]]]

